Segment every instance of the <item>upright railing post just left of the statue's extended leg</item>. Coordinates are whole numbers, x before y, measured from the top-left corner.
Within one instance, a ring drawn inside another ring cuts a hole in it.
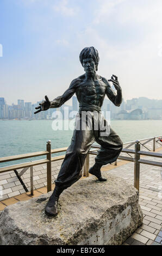
[[[51,141],[47,141],[47,159],[49,162],[47,163],[47,192],[52,190],[52,169],[51,169]]]

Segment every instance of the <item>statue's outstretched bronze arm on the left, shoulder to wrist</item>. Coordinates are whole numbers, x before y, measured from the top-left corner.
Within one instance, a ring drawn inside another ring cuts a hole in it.
[[[65,91],[63,95],[58,96],[53,101],[51,101],[50,108],[61,107],[67,100],[69,100],[76,92],[76,86],[79,84],[79,82],[80,82],[79,78],[74,79],[71,82],[70,87]]]

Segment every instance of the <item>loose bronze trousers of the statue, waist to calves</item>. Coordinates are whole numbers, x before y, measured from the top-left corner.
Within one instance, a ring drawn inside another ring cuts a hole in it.
[[[115,162],[123,147],[120,137],[111,129],[101,113],[78,113],[71,144],[55,180],[56,186],[65,189],[82,177],[84,161],[94,142],[101,145],[95,157],[95,162],[101,166]]]

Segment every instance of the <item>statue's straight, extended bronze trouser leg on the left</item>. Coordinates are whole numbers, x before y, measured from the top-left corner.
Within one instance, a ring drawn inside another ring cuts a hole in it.
[[[94,141],[92,130],[74,130],[71,144],[55,180],[53,194],[47,203],[48,206],[51,206],[54,200],[58,200],[63,190],[82,177],[84,161]]]

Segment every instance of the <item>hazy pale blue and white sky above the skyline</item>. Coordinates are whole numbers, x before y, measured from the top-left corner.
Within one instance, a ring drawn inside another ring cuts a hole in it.
[[[161,0],[1,0],[0,97],[52,100],[84,73],[79,53],[97,48],[98,74],[119,77],[124,99],[162,99]]]

